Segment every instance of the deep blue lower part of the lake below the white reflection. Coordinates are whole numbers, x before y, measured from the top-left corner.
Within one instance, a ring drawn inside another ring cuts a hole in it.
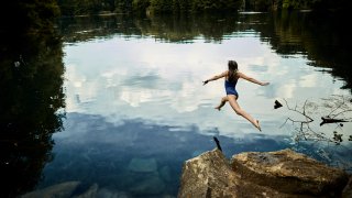
[[[117,124],[101,116],[68,113],[65,131],[54,135],[55,157],[44,169],[41,188],[78,180],[82,189],[98,184],[99,190],[111,194],[175,196],[183,163],[213,150],[212,135],[220,140],[229,158],[243,151],[288,146],[285,136],[266,138],[257,133],[230,139],[219,135],[216,129],[200,132],[196,125],[177,128],[144,120],[122,120]]]

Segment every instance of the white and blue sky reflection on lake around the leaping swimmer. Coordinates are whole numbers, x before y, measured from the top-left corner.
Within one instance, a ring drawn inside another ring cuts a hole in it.
[[[302,55],[284,58],[254,33],[239,35],[227,35],[221,43],[116,35],[67,44],[67,119],[65,130],[54,134],[55,158],[42,185],[81,180],[87,186],[98,183],[110,194],[175,196],[182,163],[212,150],[212,135],[228,157],[286,148],[293,129],[280,128],[287,110],[274,110],[275,99],[297,103],[349,95],[340,89],[342,81],[308,66]],[[220,112],[213,109],[224,96],[222,79],[202,86],[202,80],[227,69],[229,59],[249,76],[271,82],[238,84],[239,103],[261,121],[262,133],[229,105]],[[136,161],[156,162],[156,167],[152,174],[134,173]]]

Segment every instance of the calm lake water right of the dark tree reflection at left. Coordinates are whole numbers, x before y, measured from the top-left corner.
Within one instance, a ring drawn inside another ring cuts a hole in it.
[[[309,13],[289,16],[62,20],[66,118],[53,136],[54,157],[38,188],[77,180],[76,194],[97,184],[99,196],[176,197],[184,161],[215,148],[212,136],[228,157],[289,147],[329,165],[350,164],[345,138],[352,125],[320,127],[330,109],[318,108],[322,98],[351,97],[350,81],[339,73],[344,67],[333,67],[314,51],[321,50],[322,36],[304,31],[314,20]],[[202,86],[226,70],[229,59],[238,62],[240,72],[271,82],[238,82],[238,101],[261,121],[262,132],[229,105],[213,109],[224,96],[222,79]],[[339,59],[342,66],[349,62]],[[327,138],[338,131],[344,141],[297,141],[296,125],[284,123],[301,114],[274,109],[275,100],[290,107],[315,102],[308,112],[315,119],[311,129]]]

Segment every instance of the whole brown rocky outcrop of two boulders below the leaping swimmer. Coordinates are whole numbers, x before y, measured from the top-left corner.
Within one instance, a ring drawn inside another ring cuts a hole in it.
[[[216,148],[184,163],[178,197],[344,197],[348,182],[348,173],[292,150],[227,160]]]

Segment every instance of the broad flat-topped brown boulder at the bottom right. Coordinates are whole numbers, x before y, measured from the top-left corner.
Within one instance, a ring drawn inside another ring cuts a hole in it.
[[[232,169],[251,183],[292,195],[341,196],[349,176],[292,150],[234,155]]]

